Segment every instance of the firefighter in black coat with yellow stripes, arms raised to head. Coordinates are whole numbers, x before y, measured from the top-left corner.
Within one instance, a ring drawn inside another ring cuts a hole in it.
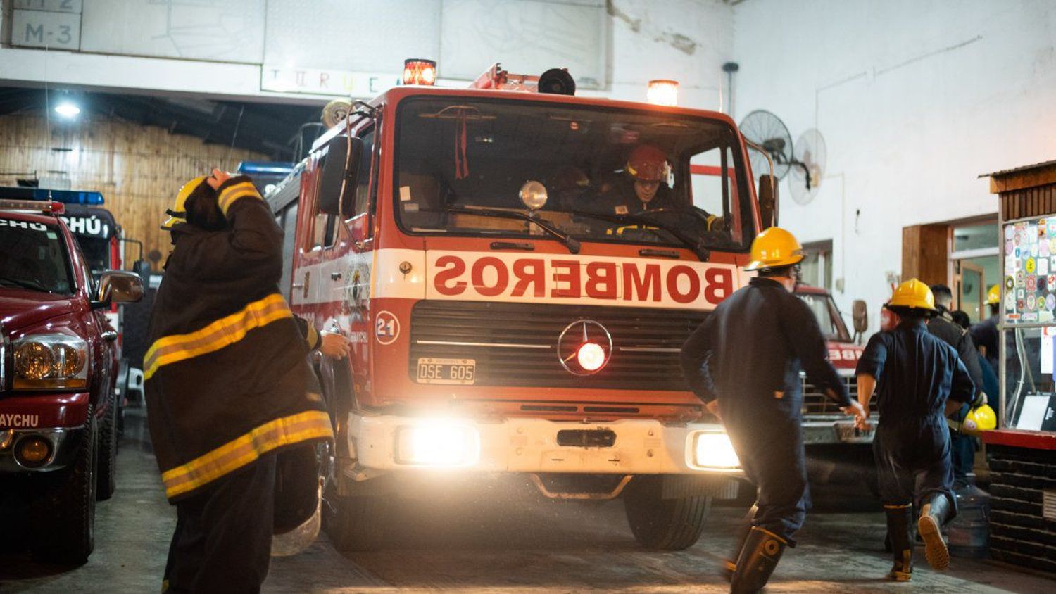
[[[279,292],[282,231],[253,185],[213,170],[169,214],[174,247],[144,358],[151,441],[177,518],[163,591],[256,592],[287,510],[277,474],[290,456],[314,462],[329,417]],[[305,475],[314,492],[317,468]]]

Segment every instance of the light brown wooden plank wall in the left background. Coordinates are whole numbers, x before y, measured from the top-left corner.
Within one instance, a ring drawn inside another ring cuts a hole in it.
[[[49,124],[33,114],[0,116],[0,186],[14,186],[35,172],[69,177],[74,190],[102,192],[125,235],[143,242],[145,254],[158,250],[159,264],[170,241],[158,225],[180,187],[213,167],[233,171],[243,160],[267,157],[106,116],[75,124]],[[135,257],[135,247],[129,249],[129,258]]]

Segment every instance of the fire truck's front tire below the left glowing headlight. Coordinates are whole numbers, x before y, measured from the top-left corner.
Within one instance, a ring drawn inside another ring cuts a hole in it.
[[[392,496],[323,497],[323,531],[338,551],[376,551],[391,528]]]

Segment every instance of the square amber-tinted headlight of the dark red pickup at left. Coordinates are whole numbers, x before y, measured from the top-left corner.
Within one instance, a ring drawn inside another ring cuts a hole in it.
[[[70,334],[31,334],[12,344],[14,389],[75,389],[88,385],[88,343]]]

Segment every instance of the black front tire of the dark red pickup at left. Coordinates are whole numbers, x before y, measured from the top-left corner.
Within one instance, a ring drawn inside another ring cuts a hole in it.
[[[38,561],[83,563],[95,549],[96,430],[92,408],[73,464],[41,475],[31,505],[30,551]]]

